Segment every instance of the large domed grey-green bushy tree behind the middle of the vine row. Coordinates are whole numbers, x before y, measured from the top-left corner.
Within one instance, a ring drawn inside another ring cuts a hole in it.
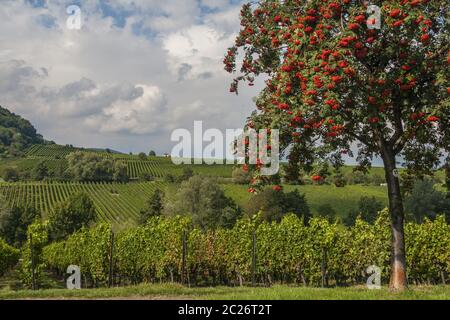
[[[194,225],[203,229],[232,227],[241,216],[239,207],[225,195],[216,179],[198,175],[181,184],[164,211],[172,216],[190,215]]]

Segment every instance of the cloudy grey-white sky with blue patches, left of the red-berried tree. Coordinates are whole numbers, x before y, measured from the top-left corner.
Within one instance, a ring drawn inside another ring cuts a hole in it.
[[[195,120],[242,127],[261,86],[230,94],[222,65],[242,2],[1,0],[0,105],[49,140],[123,152],[170,152]]]

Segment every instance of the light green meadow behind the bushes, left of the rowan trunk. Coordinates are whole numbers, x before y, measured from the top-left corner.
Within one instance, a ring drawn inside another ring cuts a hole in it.
[[[224,185],[225,193],[239,205],[244,205],[251,197],[247,188],[243,185]],[[386,187],[348,185],[344,188],[337,188],[333,185],[304,185],[285,186],[284,188],[286,191],[297,189],[300,193],[305,194],[313,213],[317,213],[320,205],[330,204],[339,216],[344,217],[350,210],[357,209],[358,201],[362,196],[375,197],[384,204],[388,204]]]

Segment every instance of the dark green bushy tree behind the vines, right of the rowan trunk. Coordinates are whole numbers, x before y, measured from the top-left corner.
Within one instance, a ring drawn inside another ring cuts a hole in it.
[[[431,179],[417,180],[411,194],[405,197],[405,212],[417,223],[425,218],[434,219],[439,214],[450,218],[450,199],[434,187]]]

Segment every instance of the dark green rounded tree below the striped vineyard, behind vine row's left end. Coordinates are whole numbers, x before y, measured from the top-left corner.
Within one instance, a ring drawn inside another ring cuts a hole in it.
[[[61,240],[88,227],[96,219],[95,206],[85,193],[72,195],[67,201],[58,204],[49,218],[50,237]]]

